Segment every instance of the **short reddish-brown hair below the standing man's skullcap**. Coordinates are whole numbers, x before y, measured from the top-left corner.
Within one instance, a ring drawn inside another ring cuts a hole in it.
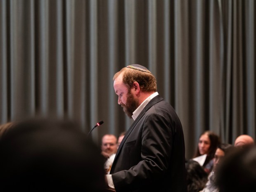
[[[126,84],[128,88],[131,88],[133,86],[133,82],[136,81],[139,83],[142,91],[156,92],[156,78],[152,73],[124,67],[114,75],[113,81],[115,81],[121,73],[123,73],[123,83]]]

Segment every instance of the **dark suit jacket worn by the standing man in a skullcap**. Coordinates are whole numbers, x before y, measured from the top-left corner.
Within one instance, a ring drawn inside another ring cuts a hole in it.
[[[110,174],[117,192],[187,192],[182,126],[173,107],[160,95],[127,131]]]

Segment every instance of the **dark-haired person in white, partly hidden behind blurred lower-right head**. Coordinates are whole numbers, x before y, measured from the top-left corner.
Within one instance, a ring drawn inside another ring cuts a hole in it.
[[[228,143],[222,143],[218,145],[218,148],[216,149],[213,158],[213,171],[211,171],[211,173],[209,174],[209,180],[206,183],[206,186],[204,187],[202,192],[218,192],[218,187],[216,186],[215,182],[216,168],[219,165],[220,161],[222,161],[223,157],[232,152],[232,149],[234,149],[234,146]]]

